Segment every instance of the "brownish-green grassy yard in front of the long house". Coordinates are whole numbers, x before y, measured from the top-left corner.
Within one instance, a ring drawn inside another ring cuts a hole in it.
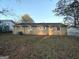
[[[10,59],[79,59],[79,38],[0,34],[3,55]]]

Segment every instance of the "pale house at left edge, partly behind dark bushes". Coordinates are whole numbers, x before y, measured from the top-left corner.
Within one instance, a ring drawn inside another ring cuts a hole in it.
[[[13,20],[0,20],[0,26],[8,26],[8,31],[13,31],[15,22]]]

